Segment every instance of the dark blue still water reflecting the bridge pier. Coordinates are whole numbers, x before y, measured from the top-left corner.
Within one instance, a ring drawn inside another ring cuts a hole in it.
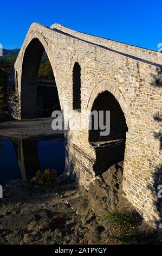
[[[0,185],[31,179],[37,170],[64,170],[64,141],[36,141],[0,137]]]

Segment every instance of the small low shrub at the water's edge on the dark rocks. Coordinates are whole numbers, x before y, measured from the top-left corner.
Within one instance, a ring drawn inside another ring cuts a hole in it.
[[[36,177],[36,184],[43,186],[44,188],[54,189],[56,187],[56,170],[49,170],[46,169],[44,172],[37,171]]]

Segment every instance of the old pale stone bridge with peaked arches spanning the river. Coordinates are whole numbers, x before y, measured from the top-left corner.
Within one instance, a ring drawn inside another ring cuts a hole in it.
[[[65,172],[88,190],[97,175],[124,160],[124,197],[146,220],[158,223],[162,54],[58,24],[49,28],[33,23],[9,77],[10,90],[14,87],[19,95],[17,119],[37,117],[37,76],[44,50],[61,109],[73,111],[73,117],[65,113],[64,120],[77,123],[92,110],[111,113],[108,136],[88,126],[65,131]]]

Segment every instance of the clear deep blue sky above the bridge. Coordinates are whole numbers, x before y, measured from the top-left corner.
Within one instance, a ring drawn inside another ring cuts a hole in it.
[[[33,22],[64,26],[127,44],[157,50],[162,42],[162,1],[28,0],[0,4],[0,43],[20,48]]]

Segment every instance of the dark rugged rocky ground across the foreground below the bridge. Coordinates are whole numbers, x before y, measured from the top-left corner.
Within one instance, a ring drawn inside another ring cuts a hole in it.
[[[11,181],[3,196],[0,244],[88,245],[160,241],[160,234],[139,219],[126,233],[125,240],[114,238],[114,232],[121,233],[121,223],[112,226],[106,215],[97,216],[87,207],[87,199],[81,198],[77,184],[67,179],[59,178],[55,192],[21,180]],[[82,214],[79,202],[82,205],[85,202]]]

